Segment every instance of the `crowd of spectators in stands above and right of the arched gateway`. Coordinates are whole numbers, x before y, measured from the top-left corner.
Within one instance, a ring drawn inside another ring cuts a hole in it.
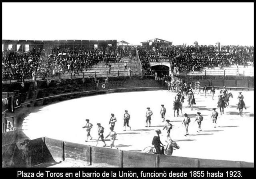
[[[170,45],[154,42],[138,48],[142,67],[152,74],[149,62],[170,62],[172,70],[182,72],[200,71],[203,67],[229,67],[230,65],[248,66],[254,63],[254,47],[225,45]]]

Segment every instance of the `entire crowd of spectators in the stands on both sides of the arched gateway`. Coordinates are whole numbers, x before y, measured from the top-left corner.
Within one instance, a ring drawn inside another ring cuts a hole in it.
[[[229,67],[230,65],[247,66],[254,63],[253,46],[225,45],[221,48],[213,45],[171,45],[155,41],[146,47],[120,45],[106,49],[74,49],[68,46],[33,49],[31,51],[2,51],[2,79],[32,78],[33,74],[46,77],[74,71],[74,75],[84,69],[104,62],[118,62],[122,57],[140,57],[145,75],[154,75],[150,62],[170,62],[172,70],[200,71],[203,67]]]

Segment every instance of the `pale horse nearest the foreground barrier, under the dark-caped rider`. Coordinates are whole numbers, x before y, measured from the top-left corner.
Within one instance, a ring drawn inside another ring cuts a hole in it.
[[[179,149],[180,146],[178,146],[178,144],[173,141],[173,140],[170,140],[170,142],[168,142],[168,144],[166,145],[165,148],[162,147],[161,151],[163,151],[162,153],[164,153],[164,155],[172,155],[172,152],[173,150],[175,149]],[[152,154],[155,154],[156,153],[156,149],[154,147],[146,147],[143,149],[143,152],[144,153],[152,153]]]

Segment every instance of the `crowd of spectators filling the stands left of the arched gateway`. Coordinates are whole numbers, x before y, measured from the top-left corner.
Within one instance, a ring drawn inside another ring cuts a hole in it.
[[[38,77],[59,75],[74,71],[79,74],[83,69],[87,70],[99,62],[118,62],[122,57],[136,55],[136,48],[118,46],[112,49],[70,49],[69,47],[48,47],[47,49],[33,49],[32,51],[11,51],[2,52],[2,79],[32,78],[35,74]]]

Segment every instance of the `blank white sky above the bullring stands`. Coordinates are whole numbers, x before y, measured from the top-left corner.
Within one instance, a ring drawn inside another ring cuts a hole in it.
[[[2,3],[2,38],[254,45],[254,4]]]

